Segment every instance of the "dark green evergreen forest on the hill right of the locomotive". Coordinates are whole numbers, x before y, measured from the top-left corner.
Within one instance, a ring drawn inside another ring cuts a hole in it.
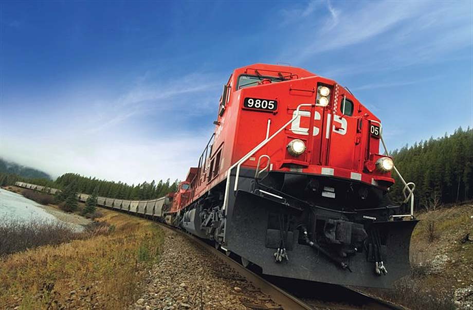
[[[473,129],[459,127],[450,136],[406,145],[391,155],[406,182],[415,183],[418,208],[431,209],[473,198]],[[402,196],[404,186],[394,172],[393,176],[396,183],[390,195],[395,200]]]

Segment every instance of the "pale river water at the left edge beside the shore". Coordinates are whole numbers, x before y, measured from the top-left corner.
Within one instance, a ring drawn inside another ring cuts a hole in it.
[[[56,221],[54,215],[44,211],[40,204],[22,195],[0,189],[0,221],[34,219]]]

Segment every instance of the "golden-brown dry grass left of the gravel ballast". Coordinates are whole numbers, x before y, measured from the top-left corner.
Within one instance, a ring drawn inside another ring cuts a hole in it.
[[[2,259],[0,308],[121,309],[134,301],[144,271],[158,258],[163,233],[140,218],[101,212],[106,234]]]

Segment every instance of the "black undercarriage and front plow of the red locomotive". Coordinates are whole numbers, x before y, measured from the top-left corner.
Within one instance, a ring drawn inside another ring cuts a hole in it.
[[[344,285],[389,287],[409,272],[417,221],[392,221],[404,206],[353,180],[296,172],[231,175],[181,213],[181,225],[214,240],[267,275]],[[404,213],[403,213],[404,214]]]

